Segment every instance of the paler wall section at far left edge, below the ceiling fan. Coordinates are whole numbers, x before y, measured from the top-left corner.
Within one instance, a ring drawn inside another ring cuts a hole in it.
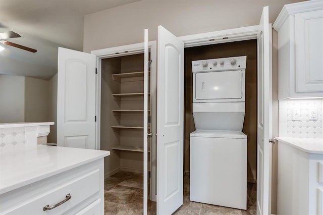
[[[25,77],[0,75],[0,123],[24,122]]]

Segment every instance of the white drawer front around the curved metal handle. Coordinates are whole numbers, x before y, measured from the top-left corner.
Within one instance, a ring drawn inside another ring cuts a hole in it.
[[[22,205],[16,205],[17,207],[14,210],[6,214],[62,214],[91,195],[99,192],[99,173],[99,169],[94,169],[75,179],[66,181],[59,186],[37,195],[37,197],[29,199]],[[43,210],[46,205],[52,206],[63,201],[67,194],[70,194],[71,198],[65,203],[51,210]]]

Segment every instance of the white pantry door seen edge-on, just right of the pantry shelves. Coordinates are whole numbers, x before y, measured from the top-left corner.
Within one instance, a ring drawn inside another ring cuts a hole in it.
[[[143,87],[143,214],[147,214],[148,196],[148,29],[144,30]]]

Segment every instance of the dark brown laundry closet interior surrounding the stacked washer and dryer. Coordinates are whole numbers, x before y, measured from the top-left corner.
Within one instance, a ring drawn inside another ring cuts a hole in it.
[[[245,72],[245,118],[242,132],[248,136],[247,199],[249,205],[251,204],[251,202],[249,201],[250,198],[254,198],[255,202],[255,183],[257,179],[257,39],[187,47],[184,49],[184,53],[184,195],[187,196],[189,196],[190,189],[190,133],[195,131],[192,113],[193,74],[191,62],[205,59],[247,56]],[[221,174],[221,172],[219,172],[219,174]],[[249,190],[251,187],[253,189]]]

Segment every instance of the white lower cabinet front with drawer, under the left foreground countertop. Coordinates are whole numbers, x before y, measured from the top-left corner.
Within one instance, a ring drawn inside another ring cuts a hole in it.
[[[103,158],[0,195],[1,214],[103,214]]]

